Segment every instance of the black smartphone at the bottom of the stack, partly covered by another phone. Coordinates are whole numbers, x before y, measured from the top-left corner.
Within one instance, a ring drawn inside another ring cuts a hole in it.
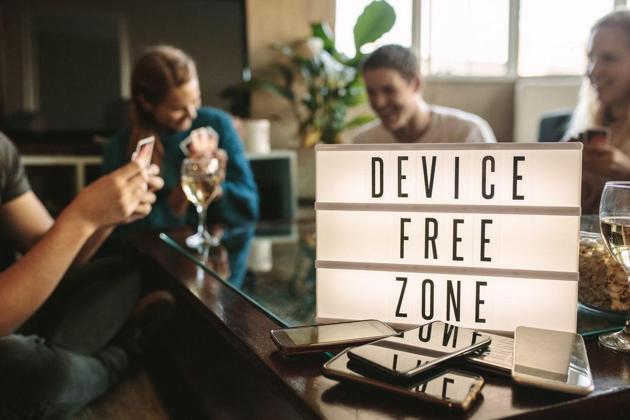
[[[458,370],[432,371],[430,375],[406,384],[391,382],[384,375],[350,360],[348,349],[324,363],[322,373],[331,379],[364,383],[462,411],[471,406],[484,384],[483,377]]]

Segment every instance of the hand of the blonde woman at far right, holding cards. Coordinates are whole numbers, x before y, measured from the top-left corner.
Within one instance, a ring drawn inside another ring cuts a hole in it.
[[[585,171],[600,174],[609,179],[630,179],[630,156],[609,144],[585,144],[582,151],[582,167]]]

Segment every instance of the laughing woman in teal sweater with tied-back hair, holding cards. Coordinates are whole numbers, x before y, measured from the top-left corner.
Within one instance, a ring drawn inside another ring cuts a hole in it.
[[[180,143],[196,128],[212,127],[218,149],[201,150],[192,157],[217,157],[221,188],[208,208],[208,220],[239,224],[258,218],[258,188],[243,142],[231,117],[201,106],[197,69],[183,51],[168,45],[147,48],[134,64],[131,77],[130,127],[105,146],[103,169],[110,172],[129,161],[139,140],[156,137],[152,163],[161,168],[164,188],[146,219],[135,225],[163,227],[197,224],[195,208],[180,186]]]

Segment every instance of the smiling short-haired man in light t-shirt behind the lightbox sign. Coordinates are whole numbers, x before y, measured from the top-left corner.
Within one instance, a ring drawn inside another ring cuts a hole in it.
[[[490,125],[478,115],[424,101],[424,79],[408,48],[384,45],[370,54],[362,70],[379,119],[362,127],[355,143],[496,142]]]

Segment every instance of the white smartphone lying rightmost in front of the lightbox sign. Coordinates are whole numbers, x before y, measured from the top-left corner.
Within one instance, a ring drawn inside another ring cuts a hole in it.
[[[512,379],[578,395],[595,389],[582,336],[550,329],[517,327]]]

